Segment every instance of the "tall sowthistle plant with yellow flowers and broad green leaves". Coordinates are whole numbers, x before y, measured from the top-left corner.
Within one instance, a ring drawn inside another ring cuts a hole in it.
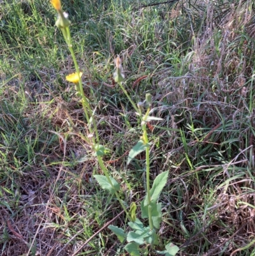
[[[179,248],[172,243],[168,243],[165,246],[164,251],[157,251],[154,249],[154,245],[159,244],[159,236],[157,234],[157,229],[160,227],[161,222],[161,203],[157,202],[157,199],[162,192],[167,178],[168,178],[168,171],[162,172],[159,174],[156,179],[154,180],[152,187],[150,188],[150,156],[149,156],[149,149],[150,149],[150,142],[149,137],[147,134],[147,123],[152,120],[160,121],[162,120],[159,117],[152,117],[150,116],[150,107],[152,104],[152,98],[150,94],[146,94],[146,98],[144,102],[138,102],[137,105],[131,97],[129,96],[128,92],[123,86],[124,81],[124,73],[121,64],[120,57],[117,56],[115,58],[115,72],[113,73],[113,78],[117,85],[120,86],[122,91],[126,94],[129,99],[129,102],[133,105],[136,115],[140,121],[142,136],[140,140],[136,143],[136,145],[131,149],[128,155],[128,164],[135,158],[136,155],[140,154],[141,152],[145,151],[146,154],[146,190],[147,194],[145,198],[142,200],[140,204],[140,209],[142,212],[142,218],[149,220],[149,225],[145,225],[139,218],[136,216],[136,203],[132,202],[129,211],[128,208],[125,206],[124,202],[120,199],[119,191],[120,191],[120,184],[110,176],[108,170],[106,169],[105,163],[103,162],[102,156],[105,154],[105,146],[100,144],[99,141],[99,133],[96,126],[96,121],[94,119],[94,111],[91,109],[91,105],[89,104],[89,99],[84,94],[84,89],[82,86],[82,72],[80,72],[80,68],[77,63],[77,59],[75,57],[73,51],[73,45],[71,42],[71,34],[69,30],[70,22],[68,20],[68,14],[62,11],[61,1],[60,0],[51,0],[52,6],[54,6],[55,10],[58,13],[57,21],[55,25],[61,29],[62,34],[64,36],[64,40],[68,45],[68,49],[71,53],[73,63],[75,64],[75,73],[66,76],[66,80],[68,82],[73,82],[75,84],[75,90],[77,91],[77,96],[81,98],[82,107],[84,109],[85,118],[87,121],[87,126],[89,130],[89,134],[84,135],[82,132],[78,130],[78,134],[85,142],[91,145],[92,150],[94,151],[94,156],[98,159],[99,166],[103,170],[104,175],[94,175],[96,181],[98,181],[101,188],[109,192],[111,195],[115,195],[115,197],[119,200],[120,206],[124,209],[126,213],[126,217],[129,219],[128,225],[131,227],[132,231],[126,233],[124,229],[121,227],[116,227],[113,225],[109,226],[109,229],[112,230],[113,233],[117,235],[120,242],[126,241],[128,242],[124,249],[133,256],[139,256],[140,253],[147,253],[149,254],[149,247],[150,250],[159,253],[161,255],[175,255]],[[77,128],[75,129],[77,133]],[[146,246],[141,246],[146,245]],[[150,245],[150,246],[148,246]],[[141,247],[140,247],[141,246]]]

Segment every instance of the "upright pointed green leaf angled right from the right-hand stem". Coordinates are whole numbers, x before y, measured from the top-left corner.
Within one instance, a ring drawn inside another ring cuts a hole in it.
[[[159,194],[162,192],[168,178],[168,173],[169,173],[168,170],[166,172],[162,172],[154,180],[154,183],[152,184],[152,188],[150,189],[150,200],[152,202],[156,202],[157,198],[159,197]],[[148,204],[148,194],[144,199],[144,206],[147,206],[147,204]]]

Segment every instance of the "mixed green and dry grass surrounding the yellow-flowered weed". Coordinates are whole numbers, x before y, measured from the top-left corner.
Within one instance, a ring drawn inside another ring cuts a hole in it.
[[[178,255],[255,255],[252,1],[141,7],[148,3],[62,1],[108,170],[124,202],[143,199],[145,154],[126,165],[141,136],[135,111],[104,84],[120,54],[131,98],[152,94],[163,118],[148,130],[151,179],[170,170],[156,249],[172,242]],[[106,227],[125,225],[122,208],[92,177],[101,169],[60,107],[87,132],[54,24],[47,1],[0,3],[0,252],[127,255]]]

